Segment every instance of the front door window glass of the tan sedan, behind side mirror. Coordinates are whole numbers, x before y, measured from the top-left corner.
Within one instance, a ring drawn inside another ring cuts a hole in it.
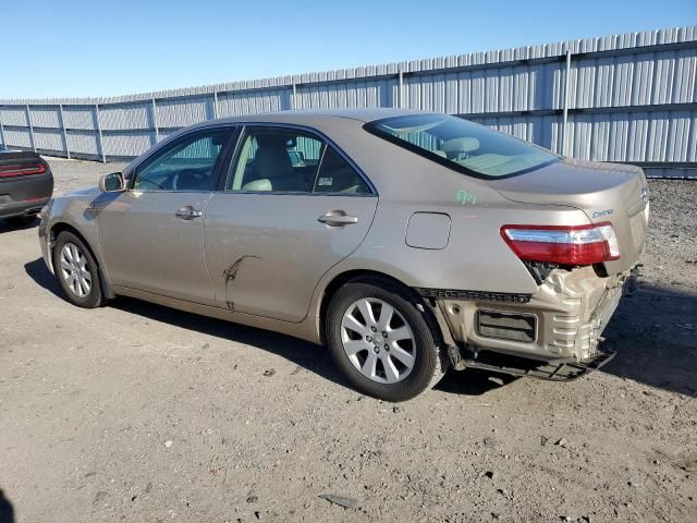
[[[186,136],[156,154],[136,170],[133,188],[144,191],[208,191],[229,130]]]

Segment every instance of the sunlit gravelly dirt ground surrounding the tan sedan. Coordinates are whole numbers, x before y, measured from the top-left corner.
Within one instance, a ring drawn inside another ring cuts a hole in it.
[[[120,167],[50,163],[57,193]],[[650,188],[611,364],[453,373],[401,404],[292,338],[71,306],[36,223],[0,223],[0,522],[697,521],[697,182]]]

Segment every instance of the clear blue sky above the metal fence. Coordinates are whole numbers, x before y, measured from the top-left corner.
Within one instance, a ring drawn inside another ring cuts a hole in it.
[[[109,96],[697,24],[697,0],[0,0],[0,98]]]

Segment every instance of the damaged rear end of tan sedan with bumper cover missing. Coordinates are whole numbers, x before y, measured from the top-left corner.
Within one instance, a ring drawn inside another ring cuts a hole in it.
[[[508,374],[573,379],[612,357],[598,345],[623,287],[634,278],[635,270],[602,278],[592,267],[557,268],[534,294],[418,291],[438,318],[453,366],[493,365],[490,369]],[[496,363],[478,357],[491,353]],[[510,362],[501,362],[500,355],[511,356]],[[540,368],[530,370],[516,362],[521,358]]]

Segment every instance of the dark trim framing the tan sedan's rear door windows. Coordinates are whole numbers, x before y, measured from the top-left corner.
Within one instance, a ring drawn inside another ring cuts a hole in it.
[[[317,182],[317,175],[321,170],[321,161],[325,158],[325,153],[327,151],[327,147],[332,147],[337,154],[339,154],[348,166],[355,170],[358,175],[366,183],[369,193],[342,193],[342,192],[326,192],[326,193],[316,193],[313,191],[225,191],[225,183],[228,178],[231,174],[234,166],[239,160],[239,156],[242,153],[242,147],[244,145],[244,138],[246,136],[247,127],[278,127],[282,130],[294,130],[294,131],[303,131],[307,134],[314,135],[316,139],[323,142],[322,156],[319,159],[317,173],[315,174],[315,180],[313,182],[313,188],[315,187],[315,183]],[[289,196],[350,196],[350,197],[376,197],[379,196],[377,188],[370,181],[370,179],[366,175],[365,172],[356,165],[355,161],[346,155],[341,147],[339,147],[331,138],[329,138],[322,132],[308,127],[307,125],[298,125],[294,123],[276,123],[276,122],[241,122],[240,129],[236,137],[236,144],[234,147],[231,147],[232,154],[230,155],[230,159],[227,161],[227,172],[220,173],[220,179],[218,181],[218,185],[215,188],[216,192],[220,192],[223,194],[268,194],[268,195],[289,195]]]

